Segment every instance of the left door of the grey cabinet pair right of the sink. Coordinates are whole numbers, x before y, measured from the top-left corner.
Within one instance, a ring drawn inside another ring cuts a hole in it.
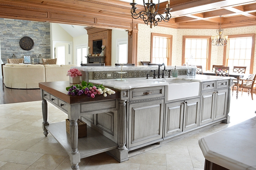
[[[213,121],[215,91],[201,93],[201,115],[199,125]]]

